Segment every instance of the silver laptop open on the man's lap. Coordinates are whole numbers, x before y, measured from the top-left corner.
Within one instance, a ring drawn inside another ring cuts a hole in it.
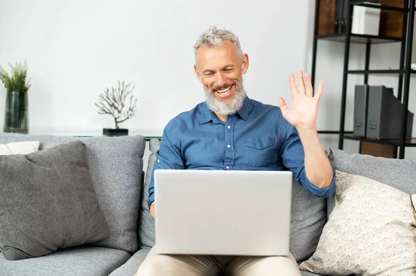
[[[292,173],[155,170],[159,254],[287,256]]]

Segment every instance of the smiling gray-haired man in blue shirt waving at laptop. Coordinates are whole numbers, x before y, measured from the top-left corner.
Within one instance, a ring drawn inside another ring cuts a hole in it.
[[[324,154],[315,124],[323,82],[313,96],[310,76],[299,71],[298,88],[295,77],[289,77],[291,109],[282,98],[279,107],[273,107],[245,94],[243,74],[248,71],[249,60],[234,33],[208,28],[198,38],[194,50],[194,70],[204,87],[206,100],[166,125],[153,172],[155,169],[290,169],[297,183],[315,196],[331,196],[335,190],[335,170]],[[148,205],[153,219],[154,193],[151,181]],[[137,275],[216,275],[220,269],[236,276],[300,275],[292,255],[157,255],[154,249]]]

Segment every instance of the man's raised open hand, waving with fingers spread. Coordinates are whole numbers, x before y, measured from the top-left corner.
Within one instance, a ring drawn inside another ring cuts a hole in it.
[[[297,86],[299,86],[299,89],[297,89],[293,74],[289,77],[289,84],[291,86],[293,104],[291,109],[289,109],[285,100],[279,97],[281,114],[293,127],[315,128],[318,116],[318,102],[324,90],[324,82],[320,81],[315,95],[313,95],[311,76],[308,73],[303,77],[302,71],[297,72]]]

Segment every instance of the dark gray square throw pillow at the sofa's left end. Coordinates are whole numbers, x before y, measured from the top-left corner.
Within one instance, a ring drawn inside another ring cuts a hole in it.
[[[107,237],[85,144],[0,156],[0,226],[0,248],[8,260]]]

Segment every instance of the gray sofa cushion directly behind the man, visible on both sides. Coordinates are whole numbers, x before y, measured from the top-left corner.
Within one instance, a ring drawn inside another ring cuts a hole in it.
[[[139,246],[141,248],[150,248],[155,244],[155,222],[150,217],[146,201],[148,199],[148,185],[156,159],[155,153],[160,147],[160,141],[158,139],[150,140],[149,147],[151,154],[146,170],[144,192],[141,197],[139,219]],[[290,250],[297,261],[303,261],[313,255],[326,222],[327,200],[313,196],[293,179]]]

